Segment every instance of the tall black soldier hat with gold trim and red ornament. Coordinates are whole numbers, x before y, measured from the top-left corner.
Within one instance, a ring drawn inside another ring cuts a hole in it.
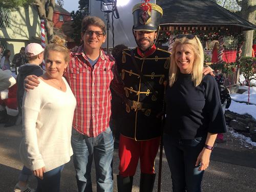
[[[134,31],[157,31],[163,10],[160,6],[152,3],[136,4],[133,7]]]

